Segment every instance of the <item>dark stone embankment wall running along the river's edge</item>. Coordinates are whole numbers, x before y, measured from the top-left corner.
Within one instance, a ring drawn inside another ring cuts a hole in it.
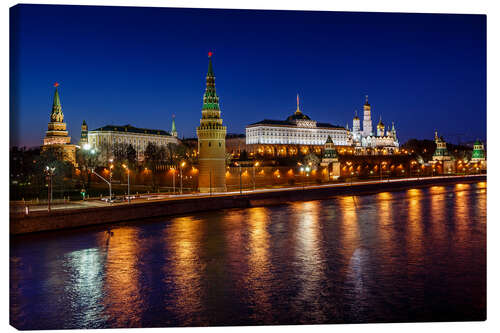
[[[338,195],[364,195],[409,188],[475,183],[486,181],[485,175],[432,177],[425,179],[397,179],[332,185],[294,187],[278,190],[217,193],[213,195],[178,196],[149,202],[119,204],[107,207],[33,212],[29,215],[11,215],[10,233],[20,235],[33,232],[69,229],[90,225],[117,223],[149,217],[170,216],[228,208],[248,208],[277,205],[292,201],[319,200]]]

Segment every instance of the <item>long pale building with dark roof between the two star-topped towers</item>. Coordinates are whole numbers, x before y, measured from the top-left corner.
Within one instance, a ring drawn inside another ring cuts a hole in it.
[[[82,131],[83,131],[82,125]],[[83,133],[82,133],[83,137]],[[144,159],[144,151],[148,143],[167,146],[169,143],[179,144],[180,141],[164,130],[137,128],[132,125],[106,125],[88,131],[88,144],[99,150],[110,149],[114,144],[132,145],[137,152],[139,161]]]

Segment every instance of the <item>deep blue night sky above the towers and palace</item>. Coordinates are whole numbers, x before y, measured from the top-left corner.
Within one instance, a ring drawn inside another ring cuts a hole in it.
[[[61,84],[86,120],[193,137],[207,52],[228,132],[285,119],[352,126],[364,95],[400,141],[486,138],[486,16],[21,5],[11,9],[11,145],[42,143]]]

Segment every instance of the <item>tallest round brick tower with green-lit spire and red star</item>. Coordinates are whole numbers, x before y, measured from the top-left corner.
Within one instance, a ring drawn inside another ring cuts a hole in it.
[[[219,97],[215,92],[212,52],[208,53],[208,73],[198,136],[200,192],[226,191],[226,126],[220,117]]]

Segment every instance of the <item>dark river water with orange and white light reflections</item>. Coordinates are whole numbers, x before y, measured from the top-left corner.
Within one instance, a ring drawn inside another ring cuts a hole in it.
[[[11,239],[19,329],[486,318],[486,182]]]

